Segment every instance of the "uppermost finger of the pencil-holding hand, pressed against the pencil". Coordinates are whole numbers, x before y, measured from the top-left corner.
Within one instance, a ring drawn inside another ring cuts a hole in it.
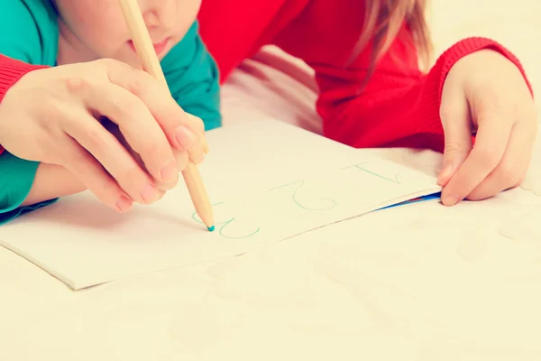
[[[142,100],[171,145],[188,151],[193,162],[203,160],[204,147],[201,141],[201,134],[205,130],[203,123],[190,119],[171,97],[168,88],[163,87],[148,73],[138,69],[122,71],[113,67],[109,69],[108,77],[112,83],[129,90]]]

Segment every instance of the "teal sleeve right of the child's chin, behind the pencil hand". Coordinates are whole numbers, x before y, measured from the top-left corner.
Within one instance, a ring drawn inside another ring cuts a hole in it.
[[[218,68],[199,36],[197,21],[161,60],[161,67],[179,106],[200,117],[206,130],[222,125]]]

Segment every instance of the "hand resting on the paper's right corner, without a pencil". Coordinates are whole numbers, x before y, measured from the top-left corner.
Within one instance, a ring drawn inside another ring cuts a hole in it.
[[[442,201],[490,198],[524,179],[536,138],[536,106],[515,64],[496,51],[457,61],[445,79]],[[472,134],[476,133],[472,147]]]

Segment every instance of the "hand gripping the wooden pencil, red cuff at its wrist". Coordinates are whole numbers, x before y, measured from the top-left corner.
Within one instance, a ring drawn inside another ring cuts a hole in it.
[[[106,116],[144,167],[96,119]],[[0,143],[26,160],[58,164],[111,208],[160,198],[189,159],[201,162],[204,126],[142,70],[96,60],[33,70],[0,104]],[[146,168],[146,170],[145,170]]]

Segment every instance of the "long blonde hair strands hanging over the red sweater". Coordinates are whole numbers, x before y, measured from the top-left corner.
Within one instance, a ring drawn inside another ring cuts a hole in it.
[[[427,29],[425,12],[427,0],[364,0],[363,30],[355,46],[358,53],[371,42],[371,77],[376,63],[389,50],[400,30],[406,26],[416,46],[417,59],[423,71],[428,69],[432,55],[432,42]]]

